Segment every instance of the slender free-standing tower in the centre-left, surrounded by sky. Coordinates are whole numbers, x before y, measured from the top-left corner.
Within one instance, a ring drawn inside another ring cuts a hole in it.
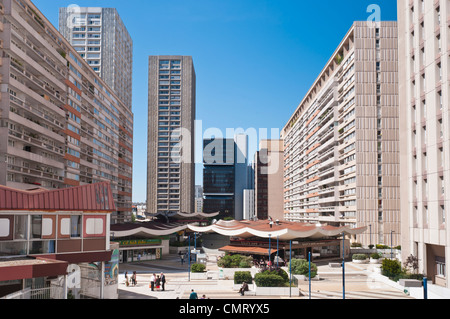
[[[195,70],[190,56],[150,56],[147,209],[194,212]]]

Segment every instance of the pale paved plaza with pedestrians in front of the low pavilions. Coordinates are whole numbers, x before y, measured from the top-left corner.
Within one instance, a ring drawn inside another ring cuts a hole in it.
[[[317,264],[320,280],[311,281],[311,299],[342,299],[342,269],[332,268],[328,264]],[[379,280],[376,272],[379,265],[354,264],[345,265],[345,299],[413,299],[403,290],[392,287]],[[215,262],[207,263],[208,271],[218,271]],[[137,273],[137,285],[125,285],[124,274]],[[165,291],[151,291],[149,288],[152,273],[166,276]],[[119,299],[188,299],[191,289],[199,298],[206,299],[309,299],[309,282],[299,283],[292,288],[289,296],[241,296],[233,289],[233,280],[193,280],[188,276],[188,264],[183,265],[177,255],[165,256],[162,260],[141,261],[119,266]]]

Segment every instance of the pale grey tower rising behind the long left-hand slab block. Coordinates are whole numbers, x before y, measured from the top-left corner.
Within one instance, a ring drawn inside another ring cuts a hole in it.
[[[59,31],[131,110],[133,41],[117,10],[60,8]]]

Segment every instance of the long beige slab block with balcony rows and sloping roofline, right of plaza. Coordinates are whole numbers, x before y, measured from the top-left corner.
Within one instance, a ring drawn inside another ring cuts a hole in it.
[[[284,127],[290,221],[399,243],[397,23],[355,22]]]

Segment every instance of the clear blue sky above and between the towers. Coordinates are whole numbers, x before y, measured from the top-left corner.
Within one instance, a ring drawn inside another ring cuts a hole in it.
[[[148,57],[191,55],[203,130],[282,129],[353,21],[371,4],[397,20],[395,0],[34,0],[58,28],[58,8],[115,7],[134,45],[133,201],[146,199]],[[257,145],[250,145],[253,157]],[[202,183],[201,165],[196,182]]]

